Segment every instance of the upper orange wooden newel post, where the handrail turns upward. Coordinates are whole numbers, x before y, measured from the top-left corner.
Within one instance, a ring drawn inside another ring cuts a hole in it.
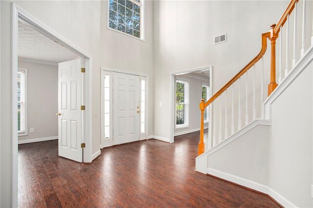
[[[274,34],[274,28],[276,24],[270,25],[270,82],[268,84],[268,96],[274,91],[274,89],[277,87],[276,83],[276,39],[278,38],[278,34]]]

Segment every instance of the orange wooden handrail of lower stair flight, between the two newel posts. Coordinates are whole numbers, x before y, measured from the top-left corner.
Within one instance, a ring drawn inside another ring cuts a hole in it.
[[[247,70],[249,70],[256,62],[258,62],[263,57],[267,49],[267,41],[269,36],[270,32],[262,33],[262,47],[259,54],[256,57],[254,57],[251,62],[246,64],[246,66],[240,72],[238,72],[231,80],[229,80],[229,82],[226,83],[219,91],[217,91],[208,101],[206,101],[203,105],[200,105],[200,109],[202,108],[205,109],[209,104],[211,104],[216,98],[218,98],[228,87],[230,87],[234,82],[236,82],[243,74],[246,73]]]

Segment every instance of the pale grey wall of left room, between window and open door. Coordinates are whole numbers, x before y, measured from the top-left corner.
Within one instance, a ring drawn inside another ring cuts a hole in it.
[[[58,66],[22,62],[27,69],[28,135],[19,141],[58,136]],[[30,133],[29,128],[34,128]]]

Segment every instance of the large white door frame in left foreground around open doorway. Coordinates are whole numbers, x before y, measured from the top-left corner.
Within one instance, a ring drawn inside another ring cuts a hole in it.
[[[17,129],[17,71],[18,71],[18,21],[22,20],[27,23],[33,29],[39,33],[45,35],[49,39],[56,41],[66,47],[68,50],[77,54],[84,60],[84,65],[86,68],[85,87],[83,89],[83,94],[85,95],[85,118],[83,120],[83,142],[86,143],[86,148],[84,151],[84,158],[86,163],[91,162],[92,154],[92,135],[91,135],[91,56],[74,45],[72,42],[69,42],[67,39],[62,37],[56,31],[45,25],[43,22],[37,20],[35,17],[27,13],[21,7],[19,7],[14,2],[11,3],[11,76],[12,76],[12,85],[11,85],[11,119],[12,119],[12,207],[18,207],[18,129]]]

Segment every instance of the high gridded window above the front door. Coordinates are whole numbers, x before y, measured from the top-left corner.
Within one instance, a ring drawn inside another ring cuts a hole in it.
[[[142,0],[109,0],[108,27],[143,39]]]

